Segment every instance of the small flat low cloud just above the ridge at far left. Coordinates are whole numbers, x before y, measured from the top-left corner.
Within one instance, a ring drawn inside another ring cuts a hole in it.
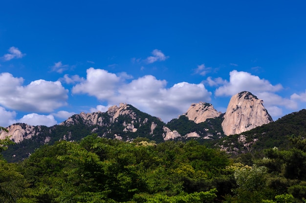
[[[57,124],[56,120],[54,119],[53,115],[40,115],[37,113],[30,113],[24,115],[21,119],[18,120],[19,123],[25,123],[31,126],[54,126]]]

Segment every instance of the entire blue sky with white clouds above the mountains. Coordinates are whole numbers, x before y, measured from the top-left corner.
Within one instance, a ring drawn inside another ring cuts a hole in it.
[[[306,109],[304,0],[14,0],[0,5],[0,126],[120,103],[169,122],[249,91]]]

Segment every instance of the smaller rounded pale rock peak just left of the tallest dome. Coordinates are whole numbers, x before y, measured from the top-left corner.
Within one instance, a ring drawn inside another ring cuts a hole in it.
[[[213,105],[199,102],[197,104],[192,104],[184,115],[187,116],[189,120],[198,124],[206,121],[206,119],[216,118],[220,114],[221,112],[215,110]]]

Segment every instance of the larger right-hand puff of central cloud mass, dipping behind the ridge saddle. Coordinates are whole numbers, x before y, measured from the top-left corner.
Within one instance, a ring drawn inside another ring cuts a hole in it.
[[[208,92],[203,84],[181,82],[171,88],[166,88],[166,84],[165,80],[146,75],[122,86],[118,90],[120,95],[111,98],[111,101],[132,104],[165,122],[187,111],[192,103],[211,101],[211,92]]]

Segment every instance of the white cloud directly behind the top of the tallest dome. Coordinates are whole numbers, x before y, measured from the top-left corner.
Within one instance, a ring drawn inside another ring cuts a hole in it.
[[[230,81],[216,90],[216,95],[232,96],[238,92],[248,91],[256,94],[257,92],[277,92],[283,89],[281,84],[272,85],[268,80],[261,79],[256,75],[247,72],[230,72]]]

